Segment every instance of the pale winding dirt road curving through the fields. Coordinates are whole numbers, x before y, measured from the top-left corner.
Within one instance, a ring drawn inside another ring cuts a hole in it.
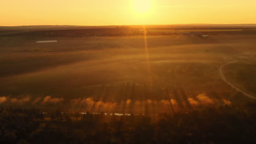
[[[226,77],[225,77],[224,74],[223,74],[223,67],[225,67],[226,65],[229,65],[229,64],[231,64],[231,63],[235,63],[235,62],[237,62],[237,61],[232,61],[232,62],[223,64],[222,66],[219,67],[219,74],[220,74],[220,76],[222,76],[222,80],[225,81],[226,83],[228,83],[228,85],[231,86],[232,88],[236,89],[237,92],[243,93],[243,95],[245,95],[245,96],[248,97],[248,98],[256,99],[256,98],[253,97],[251,94],[248,94],[248,93],[242,91],[241,89],[237,88],[235,85],[233,85],[232,83],[230,83],[228,80],[226,80]]]

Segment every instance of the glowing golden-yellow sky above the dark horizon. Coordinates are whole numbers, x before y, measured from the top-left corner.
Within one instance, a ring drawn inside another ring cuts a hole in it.
[[[256,23],[255,0],[1,0],[0,26]]]

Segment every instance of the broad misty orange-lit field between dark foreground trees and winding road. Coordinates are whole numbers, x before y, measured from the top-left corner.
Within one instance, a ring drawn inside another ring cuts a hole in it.
[[[53,39],[58,43],[36,43]],[[255,56],[254,39],[148,36],[147,55],[143,36],[0,37],[0,98],[6,99],[0,102],[96,112],[237,104],[247,99],[222,81],[218,68]]]

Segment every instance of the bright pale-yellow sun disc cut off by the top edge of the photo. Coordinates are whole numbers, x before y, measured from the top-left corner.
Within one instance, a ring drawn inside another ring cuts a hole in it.
[[[133,3],[137,13],[148,13],[152,8],[152,1],[150,0],[134,0]]]

